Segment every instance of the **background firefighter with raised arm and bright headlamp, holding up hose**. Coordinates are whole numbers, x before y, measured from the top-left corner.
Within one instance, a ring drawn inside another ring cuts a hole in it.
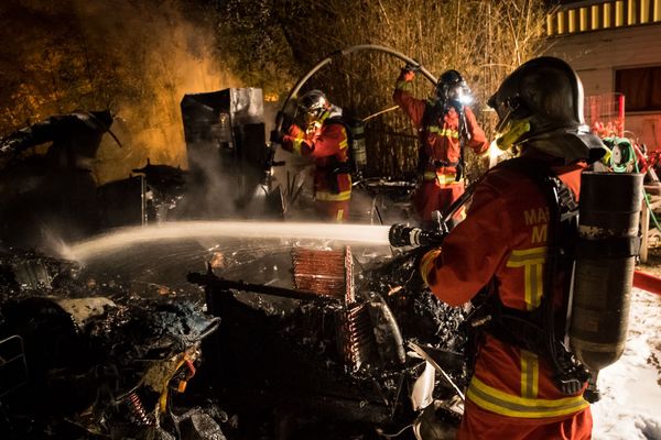
[[[462,144],[478,154],[486,153],[489,144],[475,114],[464,106],[469,90],[458,72],[441,75],[434,100],[411,96],[414,76],[413,68],[402,69],[392,99],[419,131],[422,184],[413,196],[413,206],[423,224],[430,224],[433,211],[446,210],[464,194]]]

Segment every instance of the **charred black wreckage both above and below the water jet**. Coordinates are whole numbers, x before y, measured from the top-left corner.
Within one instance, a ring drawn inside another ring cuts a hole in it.
[[[466,311],[423,288],[413,254],[286,243],[218,265],[216,250],[175,289],[22,250],[55,233],[282,218],[261,106],[259,89],[185,96],[189,169],[148,163],[100,187],[89,164],[109,112],[52,117],[3,140],[2,438],[381,438],[459,420]],[[44,142],[45,155],[24,154]],[[240,189],[231,213],[209,196],[226,186],[218,169]],[[392,188],[408,190],[382,183]]]

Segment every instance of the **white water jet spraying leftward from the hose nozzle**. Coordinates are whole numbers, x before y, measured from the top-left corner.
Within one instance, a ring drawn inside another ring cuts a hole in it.
[[[145,243],[186,239],[301,239],[342,243],[388,245],[390,227],[334,223],[283,223],[264,221],[177,221],[149,227],[121,228],[63,246],[64,257],[86,261]]]

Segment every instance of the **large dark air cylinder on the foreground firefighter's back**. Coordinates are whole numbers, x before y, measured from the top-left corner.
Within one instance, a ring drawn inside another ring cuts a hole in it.
[[[642,178],[642,174],[582,174],[568,337],[572,352],[593,376],[625,350],[640,244]]]

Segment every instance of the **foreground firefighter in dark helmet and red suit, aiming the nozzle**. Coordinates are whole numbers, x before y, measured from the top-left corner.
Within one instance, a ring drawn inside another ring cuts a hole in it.
[[[513,140],[520,152],[520,158],[513,161],[543,166],[576,199],[582,170],[605,152],[583,122],[582,103],[583,88],[575,72],[552,57],[520,66],[489,100],[500,118],[501,139]],[[422,278],[444,302],[463,305],[490,286],[485,290],[487,298],[498,305],[487,309],[495,322],[477,333],[474,374],[457,438],[589,439],[592,415],[583,396],[586,371],[579,364],[573,367],[548,356],[543,348],[538,350],[544,342],[535,342],[532,336],[497,324],[506,308],[514,314],[530,311],[524,315],[529,317],[542,304],[551,316],[564,319],[562,305],[568,298],[566,288],[561,287],[567,271],[557,272],[552,288],[544,282],[556,273],[545,272],[549,262],[560,257],[549,251],[556,249],[550,237],[561,235],[549,232],[555,230],[550,221],[554,211],[535,183],[538,174],[513,167],[513,161],[487,173],[477,184],[466,219],[449,232],[441,249],[429,251],[420,261]],[[523,315],[517,316],[523,319]],[[506,331],[492,330],[498,328]],[[564,331],[555,324],[557,329]],[[550,333],[542,334],[548,338]],[[556,331],[553,338],[561,340]],[[559,374],[557,365],[568,365],[570,374]],[[573,387],[563,387],[567,382],[560,378],[567,377],[574,381]]]

